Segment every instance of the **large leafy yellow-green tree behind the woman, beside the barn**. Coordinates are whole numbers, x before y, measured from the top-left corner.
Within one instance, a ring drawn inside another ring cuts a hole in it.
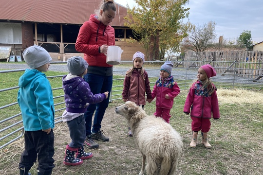
[[[128,6],[125,26],[145,47],[148,60],[162,59],[168,50],[178,50],[179,43],[187,36],[188,0],[134,0],[138,5]],[[160,53],[160,55],[159,55]],[[151,55],[152,54],[152,55]]]

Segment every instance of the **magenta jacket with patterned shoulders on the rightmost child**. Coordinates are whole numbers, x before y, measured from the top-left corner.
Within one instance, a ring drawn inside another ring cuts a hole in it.
[[[202,86],[201,81],[192,84],[186,99],[184,112],[190,113],[191,109],[191,117],[207,119],[210,119],[213,113],[213,118],[219,119],[220,113],[216,90],[208,95],[206,93],[207,89],[203,89]],[[206,94],[204,95],[204,93]]]

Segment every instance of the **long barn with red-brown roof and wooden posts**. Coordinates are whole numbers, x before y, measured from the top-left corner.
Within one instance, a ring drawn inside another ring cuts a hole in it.
[[[9,47],[11,55],[21,55],[32,45],[45,48],[53,61],[67,61],[80,55],[75,41],[81,25],[98,9],[102,0],[0,0],[0,47]],[[145,53],[124,26],[127,8],[116,3],[115,45],[122,48],[122,60],[131,60],[137,52]]]

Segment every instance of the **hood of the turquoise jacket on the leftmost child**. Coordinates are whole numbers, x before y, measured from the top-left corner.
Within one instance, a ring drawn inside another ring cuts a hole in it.
[[[38,76],[46,75],[36,69],[26,69],[24,74],[19,78],[19,88],[24,88],[28,83],[34,80]]]

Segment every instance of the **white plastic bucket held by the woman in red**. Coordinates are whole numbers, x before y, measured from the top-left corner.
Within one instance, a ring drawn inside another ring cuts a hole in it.
[[[123,50],[121,50],[119,46],[109,46],[107,54],[104,53],[107,56],[106,58],[107,64],[109,65],[120,64],[120,57],[122,52]]]

